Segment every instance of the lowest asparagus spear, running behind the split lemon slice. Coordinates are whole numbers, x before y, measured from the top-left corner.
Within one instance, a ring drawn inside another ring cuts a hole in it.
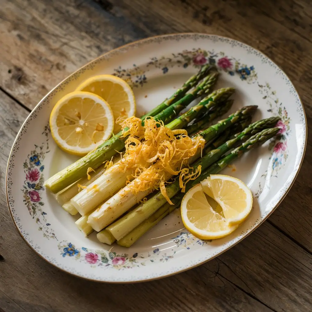
[[[241,146],[234,149],[229,155],[220,159],[217,163],[208,168],[203,172],[196,180],[190,183],[189,188],[195,186],[197,183],[207,178],[210,174],[219,173],[224,167],[232,163],[236,158],[240,157],[242,154],[248,152],[250,149],[264,143],[265,141],[271,139],[278,133],[278,128],[265,129],[260,133],[255,134]],[[158,224],[165,216],[171,213],[175,208],[179,207],[182,201],[184,193],[178,193],[172,199],[175,202],[174,205],[170,205],[168,202],[165,203],[158,211],[151,215],[144,222],[135,227],[131,232],[129,232],[122,239],[117,241],[119,246],[130,247],[132,246],[141,236],[143,236],[152,227]]]

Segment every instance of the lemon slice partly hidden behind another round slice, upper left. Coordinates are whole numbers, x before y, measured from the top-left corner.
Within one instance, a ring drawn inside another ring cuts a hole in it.
[[[133,91],[121,78],[112,75],[90,77],[81,83],[76,90],[95,93],[107,101],[115,119],[115,134],[121,130],[118,121],[135,115],[136,104]]]

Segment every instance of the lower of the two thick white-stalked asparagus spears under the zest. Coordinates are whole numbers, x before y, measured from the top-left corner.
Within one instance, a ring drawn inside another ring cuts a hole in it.
[[[197,135],[202,136],[202,138],[205,139],[206,142],[209,142],[212,139],[214,139],[217,135],[219,135],[222,131],[224,131],[225,129],[230,127],[233,123],[235,123],[241,116],[244,116],[246,114],[251,114],[251,112],[254,112],[256,110],[256,108],[257,108],[257,106],[246,106],[246,107],[242,108],[241,110],[238,110],[236,113],[230,115],[227,119],[219,121],[217,124],[209,127],[208,129],[206,129],[204,131],[201,131]],[[222,154],[224,154],[224,153],[222,153]],[[211,155],[211,156],[212,156],[212,159],[214,159],[214,161],[216,161],[220,157],[220,156],[218,156],[218,157],[216,156],[217,157],[216,158],[216,157],[213,157],[213,155]],[[202,158],[202,159],[204,159],[204,158]],[[211,163],[209,163],[209,164],[211,164]],[[152,165],[152,166],[154,166],[154,165]],[[142,177],[144,179],[145,173],[147,173],[149,175],[148,170],[149,169],[147,169],[145,172],[141,173],[141,175],[137,179],[141,179]],[[146,191],[142,191],[142,192],[139,192],[137,194],[133,194],[131,192],[131,186],[133,185],[133,183],[136,183],[136,182],[138,182],[138,181],[135,179],[134,181],[129,183],[127,186],[125,186],[123,189],[121,189],[118,193],[116,193],[113,197],[111,197],[108,201],[106,201],[99,208],[97,208],[95,210],[95,212],[90,214],[90,216],[88,218],[88,223],[95,229],[95,231],[100,231],[104,227],[108,226],[111,222],[115,221],[117,217],[119,217],[124,212],[128,211],[132,206],[134,206],[134,204],[137,201],[143,199],[145,196],[147,196],[149,193],[151,193],[152,189],[148,189]],[[177,180],[177,183],[178,182],[179,181]],[[177,184],[177,183],[173,183],[170,185],[174,185],[177,187],[177,189],[179,189],[179,184]],[[177,191],[178,190],[175,190],[175,192],[177,192]],[[164,199],[164,200],[166,201],[166,199]],[[158,205],[158,208],[160,206]],[[140,209],[139,209],[139,211],[141,212]],[[121,220],[124,220],[125,218],[127,218],[127,217],[123,217],[122,219],[120,219],[118,221],[118,224],[120,224],[120,222],[122,224],[124,221],[121,221]],[[141,223],[141,222],[139,222],[139,223]],[[138,224],[136,224],[136,225],[138,225]],[[128,228],[129,227],[124,227],[123,230],[118,230],[118,231],[120,231],[120,232],[124,231],[124,230],[127,231]],[[120,226],[118,226],[118,229],[120,229]],[[132,228],[131,228],[131,230],[132,230]],[[131,231],[131,230],[129,230],[129,231]],[[113,236],[115,236],[115,235],[117,236],[117,234],[118,234],[115,232],[114,233],[111,232],[111,233],[113,234]],[[115,236],[115,238],[117,239],[116,236]]]

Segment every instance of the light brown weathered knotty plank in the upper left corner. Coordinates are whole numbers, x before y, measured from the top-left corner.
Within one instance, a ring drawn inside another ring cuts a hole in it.
[[[0,86],[29,108],[100,54],[148,37],[94,2],[1,1]]]

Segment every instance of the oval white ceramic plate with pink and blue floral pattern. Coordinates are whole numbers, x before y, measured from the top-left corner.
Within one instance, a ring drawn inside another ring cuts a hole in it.
[[[279,115],[281,137],[236,161],[222,173],[243,180],[254,195],[247,221],[212,242],[183,229],[178,210],[131,248],[106,246],[89,238],[42,188],[45,178],[76,160],[54,143],[48,127],[56,101],[86,78],[114,74],[133,87],[138,115],[149,111],[207,62],[219,66],[217,87],[236,88],[232,111],[258,105],[254,120]],[[44,97],[13,144],[7,167],[7,202],[25,241],[46,261],[68,273],[105,282],[135,282],[175,274],[212,259],[251,233],[295,180],[304,156],[306,120],[293,84],[261,52],[241,42],[204,34],[153,37],[110,51],[76,71]]]

